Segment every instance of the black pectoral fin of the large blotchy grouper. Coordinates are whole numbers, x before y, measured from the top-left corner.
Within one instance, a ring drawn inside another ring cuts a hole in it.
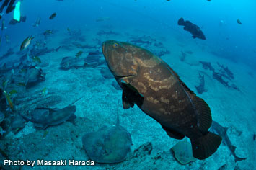
[[[122,102],[123,109],[129,109],[134,106],[134,103],[141,107],[144,101],[144,96],[131,84],[121,83],[123,89]]]

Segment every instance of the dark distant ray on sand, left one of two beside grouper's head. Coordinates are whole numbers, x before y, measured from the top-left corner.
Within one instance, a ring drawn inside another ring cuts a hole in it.
[[[61,69],[69,70],[70,68],[84,68],[87,66],[87,63],[85,63],[84,58],[64,57],[60,65]]]

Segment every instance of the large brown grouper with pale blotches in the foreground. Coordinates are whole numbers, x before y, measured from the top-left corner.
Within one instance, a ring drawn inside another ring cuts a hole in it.
[[[134,104],[154,118],[171,138],[190,138],[193,156],[211,156],[222,138],[211,133],[211,109],[182,82],[167,63],[127,42],[102,43],[110,71],[123,89],[123,108]]]

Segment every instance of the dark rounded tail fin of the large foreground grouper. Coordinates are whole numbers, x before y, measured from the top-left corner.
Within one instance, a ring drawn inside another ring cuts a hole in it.
[[[200,160],[211,156],[221,144],[221,136],[208,132],[202,137],[191,140],[193,156]]]

